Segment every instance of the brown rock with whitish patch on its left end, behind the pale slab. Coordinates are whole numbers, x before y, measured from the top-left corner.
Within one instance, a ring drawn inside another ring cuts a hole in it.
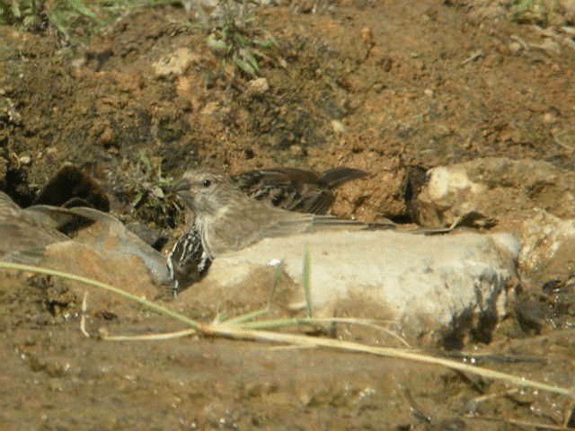
[[[575,172],[551,163],[483,158],[428,172],[429,182],[416,200],[418,223],[448,226],[470,219],[482,227],[517,218],[534,207],[555,216],[575,216]]]

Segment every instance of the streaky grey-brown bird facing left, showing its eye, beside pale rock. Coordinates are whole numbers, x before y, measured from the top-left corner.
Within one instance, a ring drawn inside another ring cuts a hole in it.
[[[174,191],[193,210],[192,227],[199,232],[209,259],[267,237],[365,227],[333,216],[300,214],[272,207],[249,198],[229,177],[215,172],[186,172]]]

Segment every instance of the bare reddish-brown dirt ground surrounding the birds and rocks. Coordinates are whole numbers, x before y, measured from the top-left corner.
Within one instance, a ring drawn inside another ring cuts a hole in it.
[[[484,156],[573,170],[575,49],[561,29],[575,12],[512,19],[512,3],[261,7],[246,34],[265,29],[277,41],[259,57],[267,90],[233,62],[222,66],[209,30],[178,4],[125,14],[89,43],[0,26],[0,189],[30,205],[75,163],[102,183],[113,214],[170,242],[182,220],[164,192],[190,166],[364,169],[372,177],[342,187],[333,212],[366,222],[411,221],[404,184],[413,170]],[[537,310],[556,305],[537,296],[552,279],[523,286]],[[565,397],[436,366],[226,339],[86,339],[81,298],[66,286],[0,280],[2,429],[575,427]],[[511,315],[490,346],[465,350],[494,355],[481,365],[573,387],[571,295],[553,318]],[[89,326],[181,329],[129,304],[93,313]]]

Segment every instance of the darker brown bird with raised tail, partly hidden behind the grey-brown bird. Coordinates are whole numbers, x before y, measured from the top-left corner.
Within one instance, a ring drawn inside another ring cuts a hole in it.
[[[275,207],[300,213],[325,214],[332,206],[333,189],[367,172],[339,167],[317,173],[297,168],[278,167],[241,172],[232,182],[250,198],[267,200]]]

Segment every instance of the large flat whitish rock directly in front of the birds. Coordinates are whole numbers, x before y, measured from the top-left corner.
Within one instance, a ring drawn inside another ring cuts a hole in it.
[[[489,339],[517,283],[519,244],[509,234],[315,233],[265,239],[218,257],[181,300],[200,307],[226,300],[242,310],[258,308],[274,284],[268,263],[283,260],[286,274],[298,283],[305,244],[315,316],[396,321],[413,339],[458,344],[471,331]],[[284,295],[292,308],[304,306],[300,287]]]

